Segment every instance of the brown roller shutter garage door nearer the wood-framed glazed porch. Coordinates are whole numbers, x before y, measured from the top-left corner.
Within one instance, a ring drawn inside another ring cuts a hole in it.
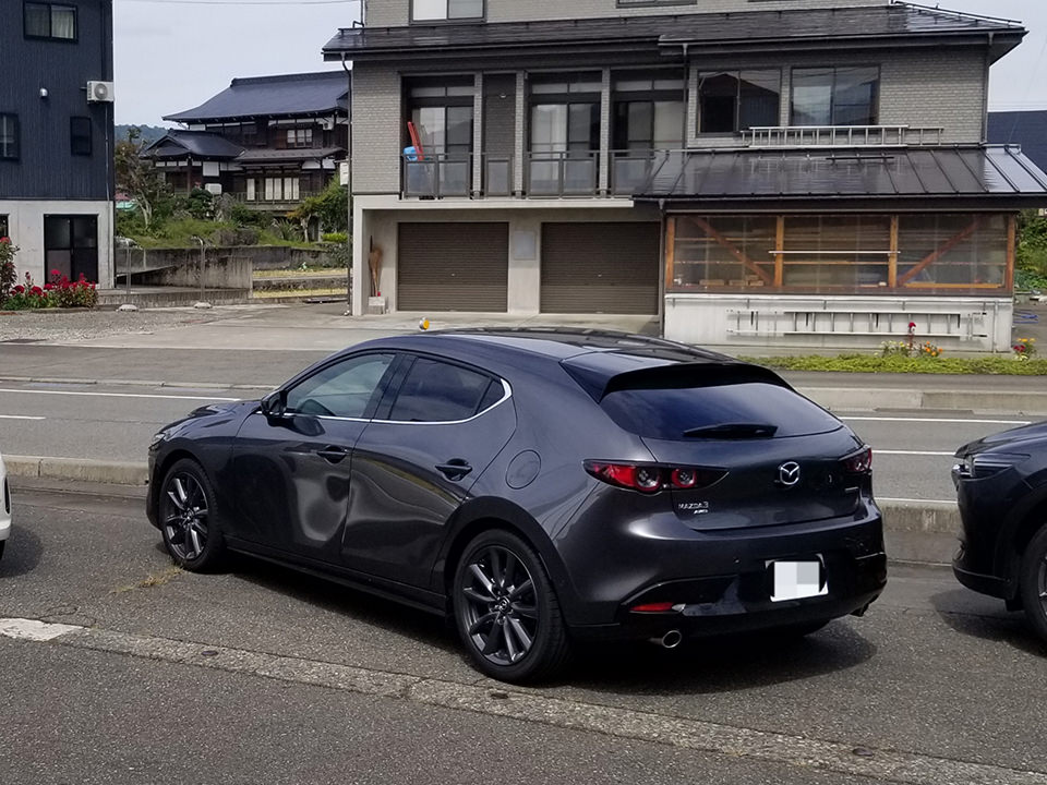
[[[543,224],[542,313],[657,314],[658,224]]]

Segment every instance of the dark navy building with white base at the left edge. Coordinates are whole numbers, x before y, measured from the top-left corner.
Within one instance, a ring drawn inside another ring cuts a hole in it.
[[[0,237],[19,275],[112,283],[112,1],[0,3]]]

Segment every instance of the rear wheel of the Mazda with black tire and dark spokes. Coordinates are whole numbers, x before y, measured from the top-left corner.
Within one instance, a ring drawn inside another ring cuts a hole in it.
[[[462,553],[452,584],[455,624],[477,667],[501,681],[550,677],[570,653],[556,592],[534,550],[492,530]]]

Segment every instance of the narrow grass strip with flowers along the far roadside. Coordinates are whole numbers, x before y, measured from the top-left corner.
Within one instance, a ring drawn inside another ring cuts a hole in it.
[[[778,371],[831,371],[844,373],[978,374],[995,376],[1047,376],[1047,360],[1013,357],[907,358],[870,354],[821,357],[739,358]]]

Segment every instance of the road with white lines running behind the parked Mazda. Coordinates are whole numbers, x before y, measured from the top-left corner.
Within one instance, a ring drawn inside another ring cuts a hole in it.
[[[144,461],[149,438],[163,425],[198,406],[267,389],[0,381],[0,451]],[[1027,422],[971,412],[837,414],[872,446],[877,495],[924,500],[953,498],[949,469],[956,447]]]

